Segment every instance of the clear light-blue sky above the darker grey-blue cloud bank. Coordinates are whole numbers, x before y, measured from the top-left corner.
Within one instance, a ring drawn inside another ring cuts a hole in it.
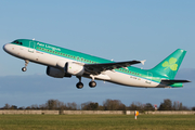
[[[147,60],[136,65],[143,68],[180,48],[187,51],[181,68],[194,69],[194,0],[0,1],[0,46],[35,38],[117,62]],[[2,77],[46,75],[46,66],[34,63],[23,73],[24,61],[3,50],[0,58]]]

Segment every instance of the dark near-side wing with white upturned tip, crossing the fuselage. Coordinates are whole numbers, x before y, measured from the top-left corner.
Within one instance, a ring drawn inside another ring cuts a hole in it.
[[[84,64],[84,70],[93,75],[99,75],[105,70],[113,70],[121,67],[125,68],[139,63],[144,64],[144,62],[145,61],[129,61],[129,62],[116,62],[116,63],[103,63],[103,64]]]

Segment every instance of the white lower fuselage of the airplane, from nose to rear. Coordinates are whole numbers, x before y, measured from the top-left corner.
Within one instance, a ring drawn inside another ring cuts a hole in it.
[[[78,62],[78,61],[69,60],[63,56],[37,51],[36,49],[12,44],[12,43],[5,44],[3,49],[11,55],[14,55],[23,60],[28,60],[30,62],[35,62],[38,64],[42,64],[46,66],[53,66],[53,67],[62,68],[64,67],[66,62]],[[115,82],[115,83],[130,86],[130,87],[144,87],[144,88],[156,88],[156,87],[165,88],[166,87],[165,84],[152,81],[150,79],[136,77],[133,75],[127,75],[127,74],[115,72],[115,70],[103,72],[101,75],[94,76],[94,78],[99,80],[106,80],[109,82]]]

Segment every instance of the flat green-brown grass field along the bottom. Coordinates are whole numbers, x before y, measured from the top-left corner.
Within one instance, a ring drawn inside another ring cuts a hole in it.
[[[195,130],[195,115],[0,115],[0,130]]]

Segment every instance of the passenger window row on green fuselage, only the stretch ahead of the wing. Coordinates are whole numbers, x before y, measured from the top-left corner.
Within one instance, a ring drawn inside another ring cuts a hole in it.
[[[52,51],[52,50],[43,49],[43,48],[39,48],[39,47],[37,47],[37,49],[46,51],[46,52],[50,52],[50,53],[53,53],[53,54],[58,54],[58,55],[62,55],[62,56],[70,57],[70,58],[74,58],[74,60],[77,60],[77,61],[96,64],[96,62],[93,62],[93,61],[90,61],[90,60],[86,60],[83,57],[73,56],[73,55],[69,55],[69,54],[65,54],[65,53],[61,53],[61,52],[56,52],[56,51]]]

